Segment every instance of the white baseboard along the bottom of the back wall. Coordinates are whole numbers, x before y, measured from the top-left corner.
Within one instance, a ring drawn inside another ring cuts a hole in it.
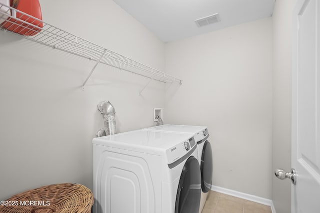
[[[234,196],[237,198],[245,199],[248,201],[253,201],[258,204],[263,204],[263,205],[269,206],[271,208],[272,213],[275,213],[275,209],[274,209],[272,200],[257,197],[255,195],[249,195],[249,194],[237,192],[234,190],[225,189],[222,187],[213,186],[213,185],[211,186],[211,190],[215,191],[215,192],[223,193],[226,195]]]

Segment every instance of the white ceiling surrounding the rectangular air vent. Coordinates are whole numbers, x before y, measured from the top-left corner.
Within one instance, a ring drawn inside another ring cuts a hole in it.
[[[272,15],[275,0],[113,0],[162,41],[178,40]],[[220,21],[194,20],[219,13]]]

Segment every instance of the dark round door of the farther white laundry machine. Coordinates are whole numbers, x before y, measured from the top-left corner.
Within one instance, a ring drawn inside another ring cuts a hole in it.
[[[207,193],[212,184],[212,150],[208,141],[204,142],[201,155],[201,189]]]

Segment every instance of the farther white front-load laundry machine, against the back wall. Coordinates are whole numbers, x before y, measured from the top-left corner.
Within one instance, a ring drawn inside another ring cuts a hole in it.
[[[207,199],[207,194],[212,184],[212,150],[209,141],[209,132],[205,126],[188,126],[188,125],[160,125],[155,127],[144,128],[152,131],[162,132],[183,132],[194,134],[197,144],[198,161],[201,171],[201,200],[199,213],[202,212],[203,206]]]

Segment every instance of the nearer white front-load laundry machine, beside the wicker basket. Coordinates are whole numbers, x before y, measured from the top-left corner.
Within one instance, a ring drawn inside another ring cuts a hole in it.
[[[92,143],[93,213],[198,213],[193,134],[135,130]]]

